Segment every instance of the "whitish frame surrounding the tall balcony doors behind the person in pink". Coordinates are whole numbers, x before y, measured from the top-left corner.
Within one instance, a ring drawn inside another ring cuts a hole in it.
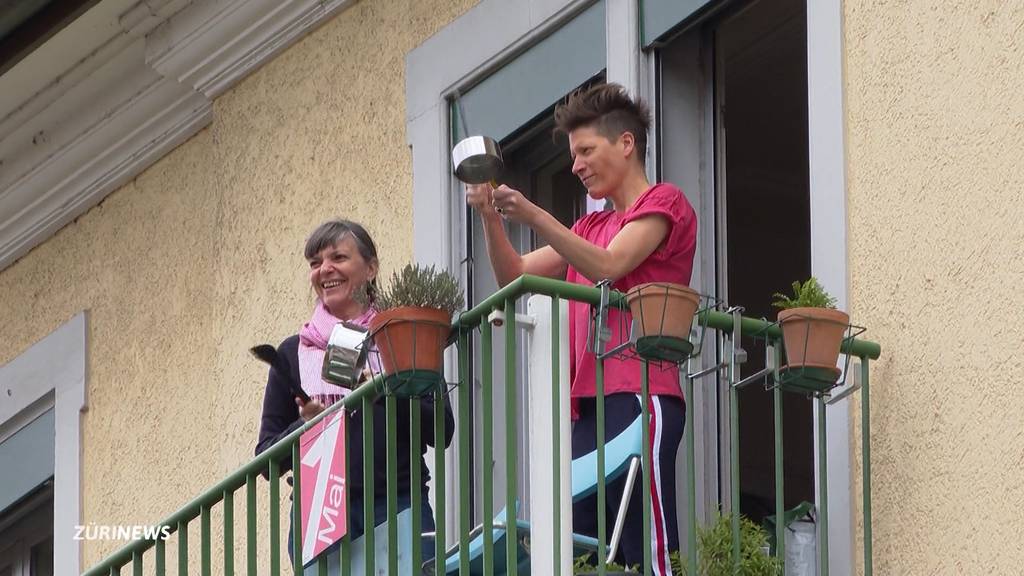
[[[500,68],[591,3],[482,0],[410,52],[406,63],[407,134],[413,149],[413,246],[417,261],[465,274],[465,208],[462,199],[451,194],[453,176],[447,165],[452,146],[447,95]],[[605,0],[605,10],[606,77],[649,99],[654,95],[653,56],[640,49],[637,0]],[[807,0],[811,270],[845,307],[849,279],[842,10],[839,0]],[[649,141],[656,142],[655,136],[652,134]],[[655,157],[653,151],[649,154]],[[828,415],[826,429],[829,568],[833,574],[844,575],[853,567],[852,439],[846,404],[837,408]],[[450,459],[450,465],[457,458]],[[452,483],[453,495],[455,489]]]

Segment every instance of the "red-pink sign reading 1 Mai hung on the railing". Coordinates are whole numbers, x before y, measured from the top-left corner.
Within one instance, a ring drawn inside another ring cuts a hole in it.
[[[299,439],[303,565],[348,531],[344,440],[344,410],[324,418]]]

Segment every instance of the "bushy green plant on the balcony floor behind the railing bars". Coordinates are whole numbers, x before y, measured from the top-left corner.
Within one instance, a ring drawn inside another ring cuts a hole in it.
[[[777,576],[782,563],[765,553],[768,534],[757,524],[739,519],[739,572],[742,576]],[[698,576],[733,576],[732,517],[720,516],[718,521],[697,531]],[[686,562],[679,552],[669,554],[673,574],[686,574]]]

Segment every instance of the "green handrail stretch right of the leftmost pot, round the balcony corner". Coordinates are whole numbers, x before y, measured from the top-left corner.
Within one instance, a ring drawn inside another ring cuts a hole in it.
[[[598,288],[524,274],[505,285],[505,287],[485,298],[479,304],[459,315],[455,321],[455,327],[456,329],[475,328],[486,319],[492,311],[504,310],[506,300],[527,293],[559,296],[592,305],[598,305],[601,302],[601,290]],[[626,295],[622,292],[612,291],[609,304],[626,310]],[[697,320],[700,323],[707,324],[709,328],[726,333],[732,332],[732,316],[724,312],[705,311],[699,314]],[[740,331],[743,334],[764,335],[771,339],[780,339],[782,337],[782,330],[777,324],[757,318],[743,317]],[[860,358],[878,360],[879,356],[882,355],[882,346],[870,340],[854,338],[843,342],[842,352]]]

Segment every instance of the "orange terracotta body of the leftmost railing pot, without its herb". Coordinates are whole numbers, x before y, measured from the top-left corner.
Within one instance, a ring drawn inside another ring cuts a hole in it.
[[[370,322],[387,374],[408,370],[440,373],[452,317],[436,308],[403,306],[379,313]]]

